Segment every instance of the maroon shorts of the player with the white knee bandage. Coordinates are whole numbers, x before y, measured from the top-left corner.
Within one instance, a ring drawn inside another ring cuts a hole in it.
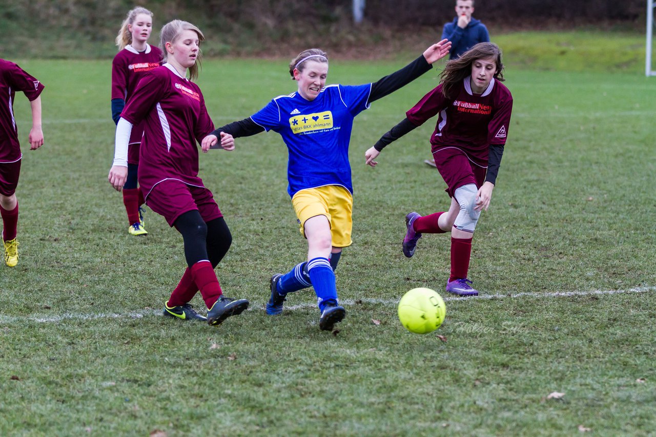
[[[443,180],[447,183],[445,191],[449,197],[458,187],[474,183],[480,188],[485,182],[487,168],[478,166],[470,161],[467,154],[457,147],[445,147],[433,152],[435,166],[438,168]]]

